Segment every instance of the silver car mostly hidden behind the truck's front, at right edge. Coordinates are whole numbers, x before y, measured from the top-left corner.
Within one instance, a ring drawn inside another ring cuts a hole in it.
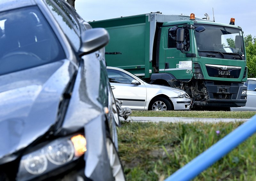
[[[230,111],[256,111],[256,78],[247,78],[247,101],[243,107],[230,107]]]

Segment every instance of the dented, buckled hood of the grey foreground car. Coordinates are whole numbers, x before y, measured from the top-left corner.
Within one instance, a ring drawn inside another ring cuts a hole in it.
[[[0,76],[0,163],[55,124],[63,91],[76,69],[63,60]]]

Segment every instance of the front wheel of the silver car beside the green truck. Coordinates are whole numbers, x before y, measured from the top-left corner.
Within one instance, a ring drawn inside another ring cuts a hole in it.
[[[152,111],[170,111],[173,110],[171,102],[166,98],[154,98],[148,106]]]

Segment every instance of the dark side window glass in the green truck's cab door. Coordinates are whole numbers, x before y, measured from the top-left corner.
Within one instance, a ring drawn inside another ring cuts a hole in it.
[[[171,28],[170,28],[171,29]],[[168,33],[168,48],[176,48],[177,47],[177,30],[176,31],[170,31]],[[179,28],[180,29],[180,28]],[[189,29],[187,27],[184,28],[185,30],[185,41],[184,41],[184,51],[189,51]]]

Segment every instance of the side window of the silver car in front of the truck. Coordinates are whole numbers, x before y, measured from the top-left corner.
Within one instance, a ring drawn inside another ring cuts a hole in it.
[[[132,84],[132,76],[128,74],[114,69],[107,69],[108,71],[108,79],[110,83],[128,83]]]

